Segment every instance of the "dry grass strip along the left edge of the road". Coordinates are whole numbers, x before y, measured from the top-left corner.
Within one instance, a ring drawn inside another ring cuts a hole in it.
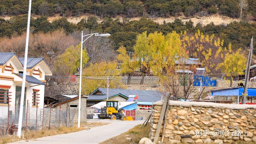
[[[25,135],[24,135],[24,140],[28,139],[36,139],[36,138],[41,138],[41,137],[47,137],[50,135],[56,135],[56,134],[65,134],[65,133],[73,133],[73,132],[78,132],[80,130],[86,130],[91,127],[97,127],[97,126],[103,126],[108,123],[81,123],[81,127],[78,128],[77,125],[74,127],[55,127],[51,129],[44,129],[44,130],[28,130]],[[10,143],[10,142],[16,142],[22,139],[18,139],[18,137],[14,136],[0,136],[0,144],[5,144],[5,143]]]

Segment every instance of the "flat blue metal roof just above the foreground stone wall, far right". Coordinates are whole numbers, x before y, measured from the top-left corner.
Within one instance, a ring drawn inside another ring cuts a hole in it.
[[[234,87],[230,89],[212,90],[212,96],[242,96],[243,92],[243,87]],[[247,93],[247,96],[256,96],[256,89],[248,88]]]

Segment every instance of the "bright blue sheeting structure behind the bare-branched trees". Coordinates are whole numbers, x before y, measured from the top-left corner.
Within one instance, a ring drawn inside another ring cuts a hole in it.
[[[200,86],[200,79],[202,79],[202,86],[217,86],[217,79],[210,76],[194,75],[194,86]]]

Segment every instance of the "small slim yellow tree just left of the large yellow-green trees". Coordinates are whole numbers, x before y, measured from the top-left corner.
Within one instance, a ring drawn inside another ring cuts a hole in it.
[[[130,84],[130,79],[132,73],[139,68],[137,58],[135,54],[132,55],[132,59],[130,55],[127,54],[125,47],[120,47],[117,52],[119,53],[117,59],[121,62],[121,74],[128,74],[127,84]]]

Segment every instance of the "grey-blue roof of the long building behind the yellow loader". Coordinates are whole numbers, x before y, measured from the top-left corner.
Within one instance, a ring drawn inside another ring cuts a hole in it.
[[[96,95],[96,91],[101,91],[102,95]],[[92,92],[91,95],[89,95],[89,98],[87,100],[105,100],[107,98],[107,89],[106,88],[98,88],[94,92]],[[118,94],[121,94],[125,97],[129,95],[137,95],[139,98],[137,101],[140,102],[157,102],[160,101],[162,96],[164,95],[160,91],[151,91],[151,90],[125,90],[125,89],[108,89],[108,96],[109,98],[116,96]]]

